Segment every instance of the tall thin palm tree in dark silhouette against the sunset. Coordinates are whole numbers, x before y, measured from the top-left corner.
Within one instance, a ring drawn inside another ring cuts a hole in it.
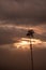
[[[31,43],[31,38],[33,38],[33,33],[34,33],[34,31],[32,29],[31,30],[28,30],[28,32],[27,32],[27,37],[30,38],[31,70],[33,70],[33,53],[32,53],[32,43]]]

